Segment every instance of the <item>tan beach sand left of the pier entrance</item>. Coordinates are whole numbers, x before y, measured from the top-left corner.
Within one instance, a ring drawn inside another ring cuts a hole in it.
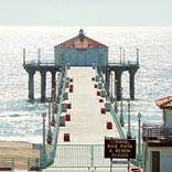
[[[28,158],[39,158],[40,151],[32,150],[32,143],[24,141],[0,141],[0,157],[14,158],[15,170],[28,169]]]

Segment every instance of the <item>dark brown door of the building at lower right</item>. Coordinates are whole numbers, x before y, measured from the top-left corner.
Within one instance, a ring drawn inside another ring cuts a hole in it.
[[[152,172],[160,172],[160,152],[152,151]]]

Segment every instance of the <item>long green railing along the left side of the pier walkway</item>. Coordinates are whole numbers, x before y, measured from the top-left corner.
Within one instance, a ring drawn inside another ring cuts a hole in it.
[[[64,67],[62,71],[64,72],[64,77],[62,77],[62,79],[66,79],[67,67]],[[42,149],[40,150],[40,169],[47,168],[54,162],[57,138],[58,138],[58,132],[60,132],[60,115],[62,114],[62,103],[63,103],[64,92],[65,92],[65,84],[63,84],[61,100],[60,100],[58,109],[56,114],[56,121],[55,121],[55,128],[54,128],[54,133],[53,133],[53,143],[51,144],[50,149],[47,149],[47,147],[46,148],[42,147]]]

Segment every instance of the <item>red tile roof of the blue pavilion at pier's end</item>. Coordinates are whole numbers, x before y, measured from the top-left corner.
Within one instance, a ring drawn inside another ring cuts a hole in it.
[[[77,36],[65,41],[55,47],[107,47],[105,44],[101,44],[95,40],[92,40],[84,34],[78,34]]]

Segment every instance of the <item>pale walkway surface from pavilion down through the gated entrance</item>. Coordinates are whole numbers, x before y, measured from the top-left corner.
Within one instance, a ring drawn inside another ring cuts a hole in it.
[[[64,168],[109,166],[109,159],[104,159],[105,136],[120,138],[117,126],[110,112],[101,114],[106,99],[97,96],[96,71],[92,67],[72,67],[67,76],[73,78],[74,90],[68,93],[72,108],[71,121],[60,127],[56,157],[54,163],[43,171],[64,170]],[[99,103],[104,99],[104,103]],[[107,121],[112,122],[112,129],[107,129]],[[64,141],[64,133],[69,133],[69,141]],[[93,162],[94,160],[94,162]],[[121,168],[120,168],[121,169]]]

